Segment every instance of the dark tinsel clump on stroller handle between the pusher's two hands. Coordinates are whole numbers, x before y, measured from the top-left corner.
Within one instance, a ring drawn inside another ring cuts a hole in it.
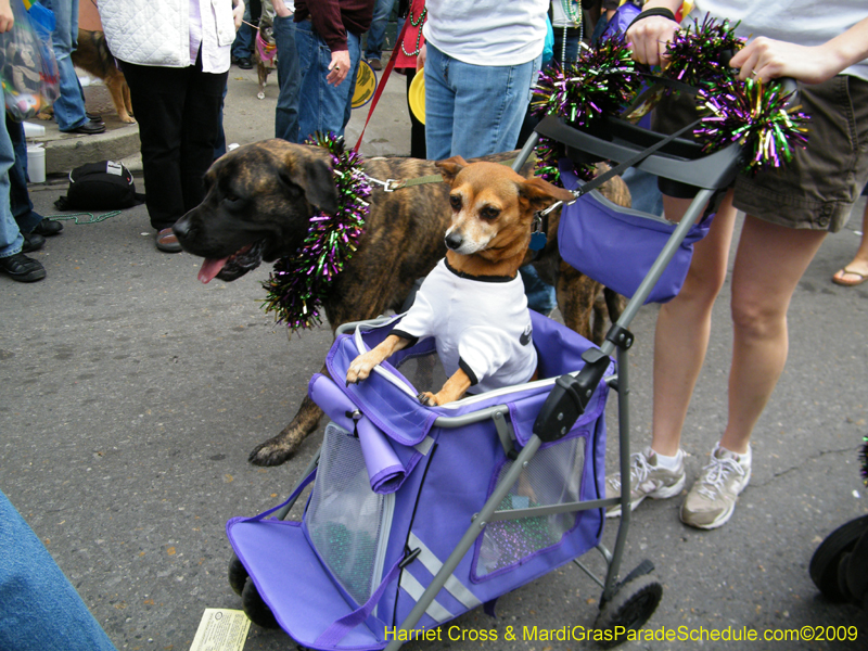
[[[736,36],[737,26],[729,21],[717,23],[709,14],[702,24],[693,18],[693,25],[676,33],[669,42],[664,75],[693,87],[733,79],[729,60],[744,47]]]

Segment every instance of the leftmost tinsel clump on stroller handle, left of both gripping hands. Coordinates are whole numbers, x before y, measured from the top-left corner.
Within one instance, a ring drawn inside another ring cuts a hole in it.
[[[596,49],[582,49],[575,63],[561,67],[553,62],[540,73],[531,111],[585,128],[604,115],[615,115],[640,82],[627,41],[616,34]]]

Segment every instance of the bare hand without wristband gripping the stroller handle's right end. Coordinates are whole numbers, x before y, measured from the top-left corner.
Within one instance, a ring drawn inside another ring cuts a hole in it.
[[[840,71],[837,58],[825,46],[808,48],[762,36],[740,50],[729,65],[740,68],[742,80],[792,77],[805,84],[826,81]]]

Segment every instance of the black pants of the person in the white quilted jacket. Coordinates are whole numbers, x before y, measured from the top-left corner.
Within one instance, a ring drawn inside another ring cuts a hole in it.
[[[151,226],[170,227],[205,196],[202,179],[214,161],[228,73],[195,65],[170,68],[120,62],[139,123],[144,192]]]

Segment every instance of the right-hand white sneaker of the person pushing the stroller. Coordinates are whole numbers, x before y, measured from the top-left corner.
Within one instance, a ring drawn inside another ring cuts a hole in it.
[[[716,445],[711,463],[702,469],[681,505],[681,522],[704,529],[723,526],[732,516],[738,496],[750,481],[751,456]]]

